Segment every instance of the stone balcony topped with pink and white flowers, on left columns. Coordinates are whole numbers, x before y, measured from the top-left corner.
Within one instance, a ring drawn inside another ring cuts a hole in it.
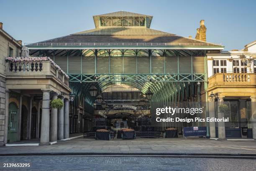
[[[50,88],[55,92],[70,91],[67,74],[46,57],[39,57],[36,61],[17,58],[6,61],[6,79],[10,89]]]

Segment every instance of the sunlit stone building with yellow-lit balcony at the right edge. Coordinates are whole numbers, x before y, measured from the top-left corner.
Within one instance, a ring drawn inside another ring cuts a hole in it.
[[[214,95],[210,102],[210,117],[230,118],[222,131],[217,123],[211,123],[213,138],[256,139],[256,41],[244,47],[240,51],[207,54],[208,96]],[[228,105],[230,110],[221,113],[217,102]]]

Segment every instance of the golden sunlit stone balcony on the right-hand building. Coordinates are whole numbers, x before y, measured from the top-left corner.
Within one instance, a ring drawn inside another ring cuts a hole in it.
[[[256,86],[254,73],[218,73],[208,79],[208,88],[253,87]]]

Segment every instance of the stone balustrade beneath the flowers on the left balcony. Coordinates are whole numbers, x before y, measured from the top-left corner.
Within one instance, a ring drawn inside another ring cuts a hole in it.
[[[8,77],[46,77],[53,76],[59,82],[69,87],[69,79],[65,77],[50,61],[8,61],[6,64],[6,76]]]

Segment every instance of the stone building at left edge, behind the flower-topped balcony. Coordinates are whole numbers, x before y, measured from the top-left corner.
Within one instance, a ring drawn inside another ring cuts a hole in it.
[[[3,23],[0,22],[0,145],[4,144],[5,113],[6,113],[6,71],[5,58],[7,56],[20,56],[21,41],[15,40],[3,30]]]

